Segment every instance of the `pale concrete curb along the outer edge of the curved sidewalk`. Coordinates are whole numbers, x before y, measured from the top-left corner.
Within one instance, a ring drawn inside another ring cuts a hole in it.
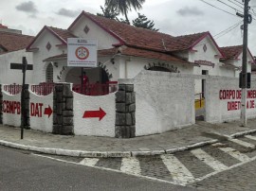
[[[223,135],[227,138],[237,138],[247,134],[255,133],[256,130],[247,130],[242,132],[237,132],[231,135]],[[71,157],[82,157],[82,158],[128,158],[136,156],[155,156],[160,154],[173,154],[175,152],[180,152],[184,150],[189,150],[192,148],[200,148],[210,144],[219,142],[217,139],[212,139],[209,141],[195,143],[189,146],[180,147],[180,148],[171,148],[171,149],[162,149],[162,150],[137,150],[137,151],[86,151],[86,150],[72,150],[64,148],[39,148],[35,146],[22,145],[18,143],[12,143],[9,141],[0,140],[1,146],[6,146],[9,148],[18,148],[29,151],[36,151],[45,154],[52,155],[64,155]]]

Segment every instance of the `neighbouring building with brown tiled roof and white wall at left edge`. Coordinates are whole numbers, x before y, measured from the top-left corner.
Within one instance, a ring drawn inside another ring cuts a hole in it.
[[[32,54],[26,51],[33,37],[23,35],[20,30],[9,29],[0,25],[0,83],[22,83],[22,72],[10,70],[10,62],[21,63],[22,57],[27,57],[29,64],[33,63]],[[27,72],[27,82],[31,81],[32,72]]]

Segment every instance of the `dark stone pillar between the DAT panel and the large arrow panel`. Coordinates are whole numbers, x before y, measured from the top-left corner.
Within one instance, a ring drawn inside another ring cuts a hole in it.
[[[53,133],[74,134],[73,92],[70,83],[57,83],[53,92]]]

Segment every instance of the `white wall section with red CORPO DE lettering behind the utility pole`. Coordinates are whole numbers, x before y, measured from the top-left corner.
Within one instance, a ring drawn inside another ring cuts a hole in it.
[[[206,121],[211,123],[221,123],[239,119],[241,114],[239,106],[239,102],[241,102],[239,96],[240,90],[238,78],[207,77],[205,95]],[[256,91],[255,79],[251,81],[251,89],[248,90]],[[228,91],[232,91],[231,95],[235,92],[235,95],[230,97],[225,96]],[[256,97],[247,99],[250,103],[249,108],[247,109],[248,118],[256,116],[255,99]],[[251,108],[252,106],[253,108]]]

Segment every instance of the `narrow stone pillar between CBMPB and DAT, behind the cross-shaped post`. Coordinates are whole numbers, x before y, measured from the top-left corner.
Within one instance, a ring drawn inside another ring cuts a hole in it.
[[[22,125],[24,125],[24,129],[29,130],[30,129],[30,116],[29,116],[29,103],[30,103],[30,96],[28,91],[28,84],[24,85],[24,109],[22,109],[22,112],[24,111],[24,121],[21,120]],[[22,102],[22,100],[21,100]],[[21,116],[22,117],[22,116]]]

